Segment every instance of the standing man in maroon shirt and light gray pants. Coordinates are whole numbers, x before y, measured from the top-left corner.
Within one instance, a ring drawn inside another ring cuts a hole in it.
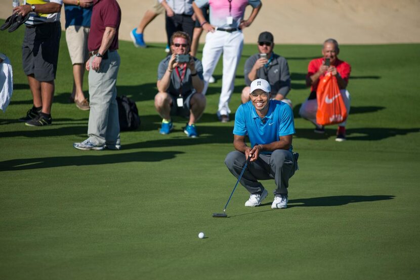
[[[88,49],[91,58],[86,63],[89,71],[88,139],[74,143],[79,150],[119,150],[118,106],[116,79],[120,64],[118,29],[121,9],[115,0],[94,0]]]

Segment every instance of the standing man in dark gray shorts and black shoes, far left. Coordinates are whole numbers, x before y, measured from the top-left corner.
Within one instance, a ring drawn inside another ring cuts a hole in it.
[[[23,17],[30,13],[25,22],[22,64],[32,92],[33,106],[19,121],[24,121],[28,126],[43,126],[52,123],[51,106],[60,46],[60,11],[63,1],[50,0],[35,5],[33,3],[39,1],[28,0],[26,4],[29,5],[13,9],[13,13],[20,13]]]

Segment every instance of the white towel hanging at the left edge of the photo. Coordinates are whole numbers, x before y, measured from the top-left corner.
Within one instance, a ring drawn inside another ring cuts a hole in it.
[[[1,53],[0,56],[4,58],[3,62],[0,63],[0,109],[6,112],[6,108],[12,98],[13,70],[9,58]]]

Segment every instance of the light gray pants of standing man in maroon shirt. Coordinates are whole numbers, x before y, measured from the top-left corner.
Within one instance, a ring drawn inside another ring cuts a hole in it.
[[[95,145],[115,145],[119,137],[118,105],[116,101],[116,81],[120,58],[116,51],[108,52],[98,72],[89,71],[89,112],[88,135]]]

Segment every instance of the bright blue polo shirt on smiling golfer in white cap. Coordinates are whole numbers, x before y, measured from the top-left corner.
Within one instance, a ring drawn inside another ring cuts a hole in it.
[[[279,141],[279,136],[295,134],[293,112],[286,103],[270,100],[267,115],[260,118],[251,101],[239,106],[235,114],[233,134],[248,135],[251,147]],[[290,145],[289,151],[292,151]],[[271,154],[271,152],[262,152]]]

